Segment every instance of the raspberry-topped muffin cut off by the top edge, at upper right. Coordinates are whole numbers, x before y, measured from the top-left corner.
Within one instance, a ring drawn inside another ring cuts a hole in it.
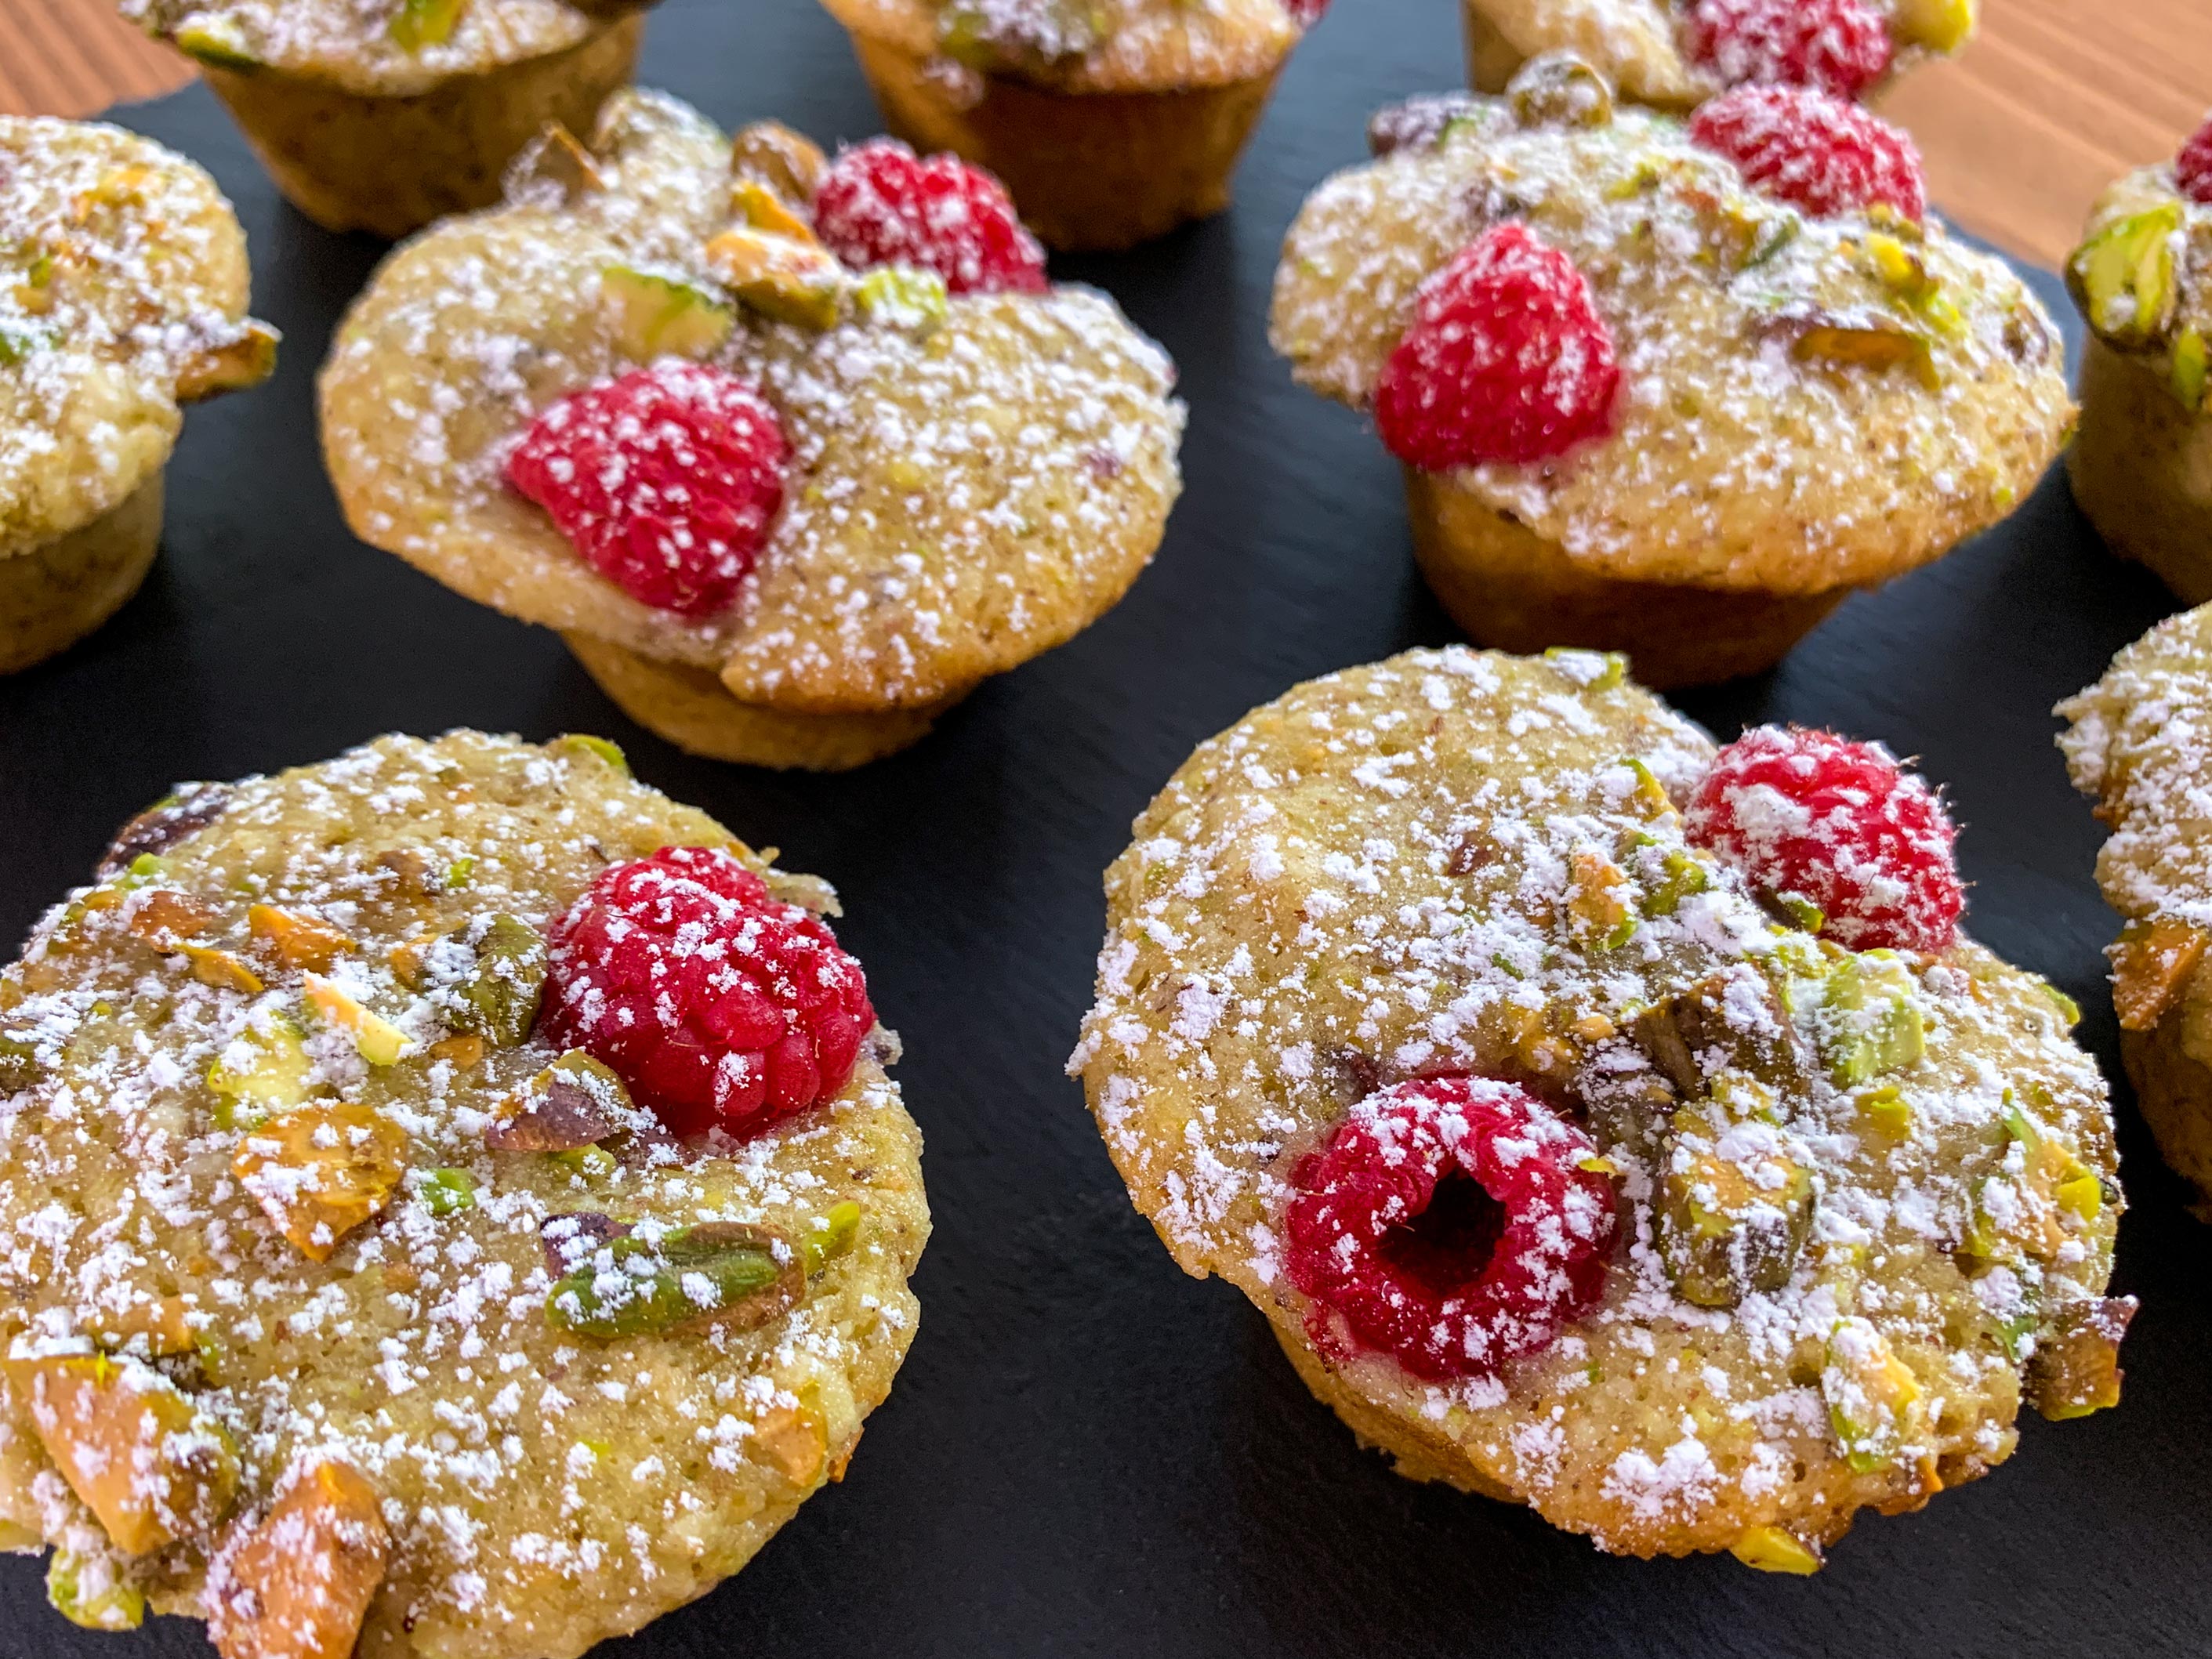
[[[1595,64],[1621,97],[1688,113],[1732,86],[1865,97],[1960,51],[1980,0],[1460,0],[1467,75],[1484,93],[1548,51]]]

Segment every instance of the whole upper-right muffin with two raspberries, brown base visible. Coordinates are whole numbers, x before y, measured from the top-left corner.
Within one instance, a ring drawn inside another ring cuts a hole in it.
[[[1854,104],[1745,86],[1683,128],[1544,58],[1371,137],[1290,228],[1272,338],[1374,414],[1480,644],[1747,675],[2057,453],[2057,330]]]

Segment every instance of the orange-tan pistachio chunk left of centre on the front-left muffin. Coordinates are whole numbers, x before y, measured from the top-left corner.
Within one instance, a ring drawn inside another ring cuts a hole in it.
[[[407,1130],[358,1102],[319,1099],[250,1130],[230,1161],[270,1223],[312,1261],[374,1217],[407,1172]]]

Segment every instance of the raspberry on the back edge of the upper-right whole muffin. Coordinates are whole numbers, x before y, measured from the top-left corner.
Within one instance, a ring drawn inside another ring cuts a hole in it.
[[[1920,150],[1902,128],[1803,86],[1739,86],[1699,106],[1690,139],[1743,168],[1743,177],[1805,212],[1832,215],[1887,201],[1907,219],[1929,210]]]

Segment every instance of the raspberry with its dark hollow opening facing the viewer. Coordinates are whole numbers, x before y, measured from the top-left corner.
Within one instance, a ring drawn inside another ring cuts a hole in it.
[[[1429,1383],[1537,1354],[1606,1290],[1613,1186],[1526,1091],[1431,1077],[1369,1095],[1292,1175],[1283,1267],[1323,1349]]]

